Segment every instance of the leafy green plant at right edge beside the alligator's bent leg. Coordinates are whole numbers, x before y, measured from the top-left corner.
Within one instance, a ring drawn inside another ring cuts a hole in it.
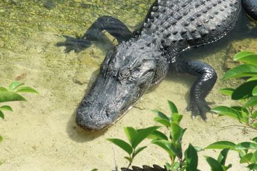
[[[242,61],[244,64],[235,66],[225,73],[223,80],[231,78],[247,78],[239,87],[235,89],[220,89],[220,92],[231,96],[232,100],[239,100],[242,106],[219,106],[211,109],[222,116],[229,116],[244,123],[247,127],[257,129],[257,54],[251,52],[241,52],[234,56],[235,61]]]

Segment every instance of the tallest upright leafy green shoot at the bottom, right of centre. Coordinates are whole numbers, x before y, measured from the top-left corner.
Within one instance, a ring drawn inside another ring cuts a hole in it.
[[[155,145],[163,148],[169,154],[171,163],[166,163],[167,170],[197,170],[198,156],[197,150],[190,144],[188,149],[185,150],[185,158],[183,158],[183,151],[181,147],[182,137],[186,129],[183,129],[179,124],[183,118],[179,114],[178,109],[173,102],[168,101],[169,109],[171,111],[170,116],[166,116],[160,111],[154,111],[156,118],[154,120],[161,125],[165,126],[169,131],[169,138],[162,132],[155,132],[155,136],[150,136]],[[156,136],[157,135],[157,136]]]

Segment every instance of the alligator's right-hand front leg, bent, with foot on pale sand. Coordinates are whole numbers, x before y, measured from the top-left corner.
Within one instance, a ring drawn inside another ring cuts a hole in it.
[[[212,66],[196,60],[183,60],[174,67],[180,73],[197,76],[197,81],[194,82],[190,89],[188,110],[192,111],[192,116],[200,115],[203,120],[206,120],[206,112],[210,111],[210,107],[207,105],[205,98],[210,90],[213,89],[217,80],[217,73]]]

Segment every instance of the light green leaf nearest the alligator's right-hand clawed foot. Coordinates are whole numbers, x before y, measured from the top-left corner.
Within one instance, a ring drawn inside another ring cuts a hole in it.
[[[229,117],[235,118],[235,119],[240,118],[240,113],[231,107],[219,106],[219,107],[214,107],[210,111],[213,111],[220,115],[229,116]]]

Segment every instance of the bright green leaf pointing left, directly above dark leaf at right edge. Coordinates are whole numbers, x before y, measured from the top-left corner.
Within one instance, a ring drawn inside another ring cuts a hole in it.
[[[252,64],[241,64],[227,71],[222,80],[229,78],[253,77],[257,75],[257,66]]]

